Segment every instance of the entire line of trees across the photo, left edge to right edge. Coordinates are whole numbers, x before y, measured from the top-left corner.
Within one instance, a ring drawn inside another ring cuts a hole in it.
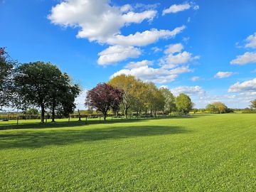
[[[67,73],[52,63],[18,63],[12,60],[5,48],[0,48],[0,110],[13,107],[25,114],[34,107],[41,110],[41,122],[46,111],[52,121],[55,114],[67,117],[75,110],[75,98],[81,88],[73,83]],[[256,109],[256,100],[251,102]],[[132,75],[119,75],[109,82],[99,83],[87,91],[85,106],[88,110],[137,116],[157,114],[188,114],[193,109],[191,98],[181,93],[175,97],[169,89],[156,87]],[[196,112],[196,109],[193,109]],[[232,112],[224,103],[214,102],[206,106],[211,113]]]

